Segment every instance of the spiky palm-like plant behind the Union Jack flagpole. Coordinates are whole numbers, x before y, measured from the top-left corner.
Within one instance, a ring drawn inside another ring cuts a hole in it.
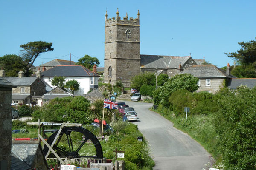
[[[103,121],[103,99],[96,99],[90,106],[90,118],[99,120],[99,134],[102,134],[102,121]],[[104,119],[111,119],[114,109],[104,109]]]

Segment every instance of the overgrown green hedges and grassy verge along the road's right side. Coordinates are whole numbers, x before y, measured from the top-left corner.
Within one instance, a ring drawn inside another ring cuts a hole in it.
[[[200,142],[222,170],[256,170],[256,88],[223,88],[217,94],[177,90],[168,104],[157,112]],[[190,107],[188,119],[184,107]]]

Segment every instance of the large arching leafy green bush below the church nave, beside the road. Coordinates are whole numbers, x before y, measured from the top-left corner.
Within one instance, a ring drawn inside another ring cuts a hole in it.
[[[166,83],[160,90],[154,92],[154,102],[155,104],[163,104],[164,106],[168,106],[168,99],[171,96],[172,92],[177,91],[179,89],[185,89],[187,91],[193,92],[198,89],[198,78],[192,76],[191,74],[177,74],[174,77],[168,79]],[[157,94],[157,93],[159,94]]]

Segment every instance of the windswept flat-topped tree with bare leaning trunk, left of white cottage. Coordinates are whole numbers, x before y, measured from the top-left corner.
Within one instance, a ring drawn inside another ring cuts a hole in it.
[[[52,42],[34,41],[27,44],[20,45],[23,48],[22,58],[25,64],[25,74],[29,76],[29,68],[35,62],[35,59],[44,52],[53,51]]]

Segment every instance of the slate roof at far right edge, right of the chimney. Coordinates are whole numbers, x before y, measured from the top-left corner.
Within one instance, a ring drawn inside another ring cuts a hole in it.
[[[230,79],[227,88],[236,89],[240,85],[246,85],[248,88],[256,86],[256,79]]]

